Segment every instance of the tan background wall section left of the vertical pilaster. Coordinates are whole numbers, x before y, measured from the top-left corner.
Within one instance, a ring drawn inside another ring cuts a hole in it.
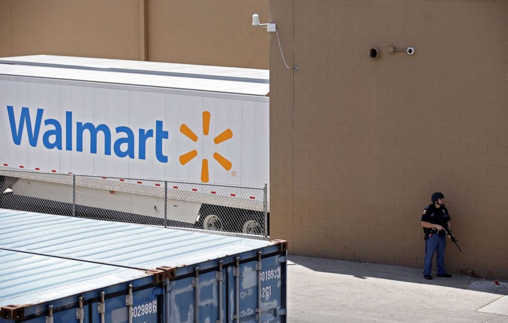
[[[13,0],[7,3],[11,25],[11,53],[7,55],[120,59],[140,56],[139,0]]]

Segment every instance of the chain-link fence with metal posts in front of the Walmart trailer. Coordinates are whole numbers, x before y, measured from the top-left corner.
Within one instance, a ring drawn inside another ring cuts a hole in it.
[[[267,187],[0,169],[4,209],[268,237]]]

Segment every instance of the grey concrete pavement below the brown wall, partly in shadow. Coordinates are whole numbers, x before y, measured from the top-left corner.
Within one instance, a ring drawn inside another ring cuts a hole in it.
[[[288,322],[508,322],[508,282],[290,255]]]

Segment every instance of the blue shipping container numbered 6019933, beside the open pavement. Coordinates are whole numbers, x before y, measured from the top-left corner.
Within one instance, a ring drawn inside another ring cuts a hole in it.
[[[286,321],[285,241],[9,210],[0,223],[2,248],[163,270],[166,322]]]

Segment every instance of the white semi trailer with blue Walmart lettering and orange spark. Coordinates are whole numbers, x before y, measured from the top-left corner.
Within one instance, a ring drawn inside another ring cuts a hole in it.
[[[205,228],[227,222],[230,210],[242,210],[241,229],[249,233],[262,221],[252,215],[269,211],[263,191],[233,191],[269,183],[268,92],[266,70],[0,58],[0,176],[16,195],[68,202],[68,196],[54,194],[69,191],[67,179],[37,180],[32,172],[100,175],[108,181],[103,187],[74,182],[86,192],[80,205],[132,212],[133,203],[165,199],[181,210],[166,213],[170,220]],[[14,172],[20,169],[32,172]],[[146,187],[133,194],[134,184],[122,178],[203,183],[206,189],[187,186],[168,198],[160,182],[155,187],[139,181]],[[137,212],[164,216],[157,207]]]

